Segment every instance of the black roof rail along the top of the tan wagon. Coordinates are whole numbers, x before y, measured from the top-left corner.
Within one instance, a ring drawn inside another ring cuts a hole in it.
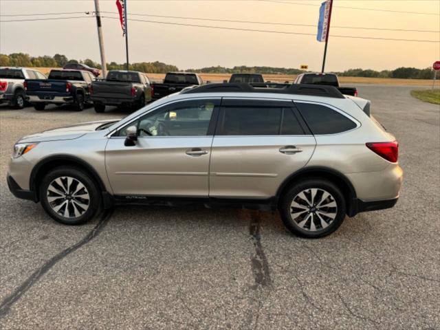
[[[259,84],[260,85],[260,84]],[[266,84],[261,84],[266,85]],[[311,96],[325,96],[327,98],[345,98],[342,93],[333,86],[325,85],[288,85],[283,88],[259,88],[253,87],[247,83],[220,83],[208,84],[198,86],[192,89],[182,91],[181,94],[196,94],[196,93],[220,93],[220,92],[245,92],[245,93],[273,93],[273,94],[298,94]]]

